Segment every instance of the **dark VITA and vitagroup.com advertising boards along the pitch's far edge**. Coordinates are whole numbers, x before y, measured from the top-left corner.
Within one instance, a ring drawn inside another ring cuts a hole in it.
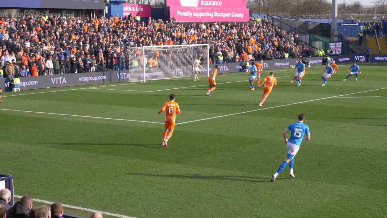
[[[367,55],[341,55],[333,56],[333,60],[337,64],[348,63],[348,62],[359,62],[362,60],[367,61]],[[283,60],[270,60],[264,61],[264,69],[280,69],[288,68],[292,65],[295,65],[298,59],[283,59]],[[312,57],[307,58],[307,61],[310,62],[310,65],[322,65],[322,57]],[[371,55],[372,62],[387,62],[387,55]],[[209,71],[211,72],[214,69],[216,64],[210,64]],[[235,63],[226,63],[218,64],[219,73],[233,73],[242,71],[241,62]],[[191,68],[191,67],[189,67]],[[163,75],[168,75],[171,78],[180,77],[177,72],[179,69],[162,69],[160,68]],[[203,71],[206,71],[204,69]],[[67,86],[76,86],[76,85],[91,85],[91,84],[100,84],[100,83],[114,83],[118,81],[132,81],[131,77],[138,78],[133,76],[130,70],[123,70],[121,74],[119,71],[101,71],[93,73],[75,73],[75,74],[58,74],[52,76],[29,76],[20,78],[20,90],[30,90],[38,88],[53,88],[53,87],[67,87]],[[157,79],[157,74],[147,75],[148,80]],[[9,79],[0,79],[0,88],[3,88],[4,92],[11,91],[11,80]]]

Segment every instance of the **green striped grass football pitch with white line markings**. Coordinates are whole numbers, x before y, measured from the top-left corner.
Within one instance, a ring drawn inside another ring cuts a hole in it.
[[[16,195],[138,218],[387,217],[387,65],[342,81],[349,66],[325,87],[324,66],[307,67],[300,87],[293,69],[274,70],[263,107],[248,73],[218,76],[210,97],[205,77],[3,93],[0,171]],[[170,93],[182,113],[164,149],[157,112]],[[287,166],[270,182],[300,112],[312,139],[296,177]]]

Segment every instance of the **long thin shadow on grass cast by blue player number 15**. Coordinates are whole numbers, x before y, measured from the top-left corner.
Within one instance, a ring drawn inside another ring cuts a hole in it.
[[[154,177],[168,177],[168,178],[182,178],[182,179],[202,179],[202,180],[230,180],[230,181],[243,181],[243,182],[271,182],[271,176],[266,178],[259,178],[253,176],[236,176],[236,175],[224,175],[224,176],[206,176],[200,174],[187,174],[187,175],[158,175],[147,173],[127,173],[127,175],[137,176],[154,176]],[[276,180],[284,180],[291,178],[276,178]]]

